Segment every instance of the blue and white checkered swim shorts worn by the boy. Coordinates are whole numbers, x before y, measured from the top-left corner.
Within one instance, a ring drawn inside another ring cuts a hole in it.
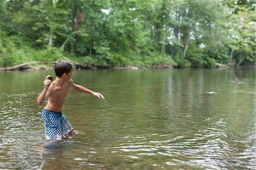
[[[46,127],[46,140],[61,140],[62,134],[68,135],[73,127],[67,117],[61,112],[42,110],[44,127]]]

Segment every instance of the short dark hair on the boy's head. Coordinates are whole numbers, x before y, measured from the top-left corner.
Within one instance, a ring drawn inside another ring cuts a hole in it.
[[[65,60],[60,60],[55,64],[55,73],[57,77],[61,77],[64,73],[68,74],[73,68],[72,63]]]

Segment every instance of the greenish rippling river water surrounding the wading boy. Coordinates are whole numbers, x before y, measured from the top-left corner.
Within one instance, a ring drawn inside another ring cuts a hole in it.
[[[46,147],[36,97],[54,71],[0,72],[0,169],[256,169],[255,69],[74,71],[77,135]]]

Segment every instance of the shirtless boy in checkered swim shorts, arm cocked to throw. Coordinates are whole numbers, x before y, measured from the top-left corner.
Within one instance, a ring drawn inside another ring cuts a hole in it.
[[[36,99],[36,102],[42,105],[48,98],[47,105],[42,110],[47,140],[61,140],[62,135],[76,134],[67,117],[61,113],[61,107],[64,104],[70,87],[77,91],[92,94],[101,100],[105,100],[102,94],[73,83],[71,79],[73,65],[69,61],[58,61],[55,64],[55,73],[57,76],[56,80],[52,82],[46,78],[46,80],[44,80],[44,89]]]

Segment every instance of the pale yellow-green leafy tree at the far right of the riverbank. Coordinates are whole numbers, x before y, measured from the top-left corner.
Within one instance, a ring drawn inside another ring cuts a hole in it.
[[[229,23],[229,39],[231,43],[230,61],[237,67],[243,61],[255,61],[255,6],[253,1],[229,0],[224,2],[232,9]]]

